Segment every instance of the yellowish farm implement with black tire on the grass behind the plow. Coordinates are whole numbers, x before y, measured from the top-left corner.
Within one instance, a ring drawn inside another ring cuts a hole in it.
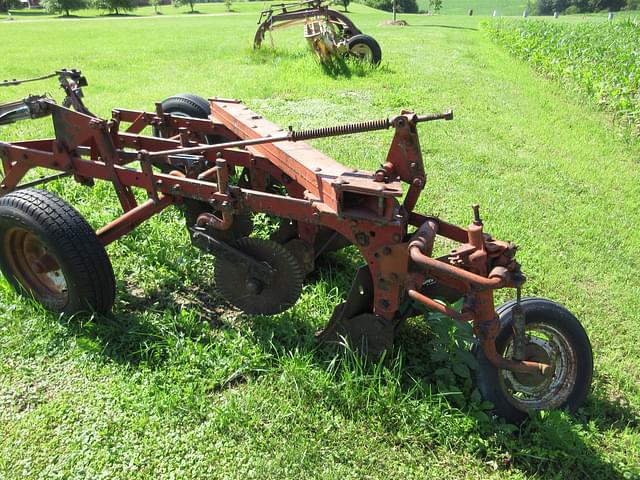
[[[267,32],[302,24],[304,38],[322,62],[344,55],[373,65],[382,59],[378,42],[363,34],[346,15],[331,10],[325,0],[273,4],[262,11],[258,24],[254,49],[260,48]]]

